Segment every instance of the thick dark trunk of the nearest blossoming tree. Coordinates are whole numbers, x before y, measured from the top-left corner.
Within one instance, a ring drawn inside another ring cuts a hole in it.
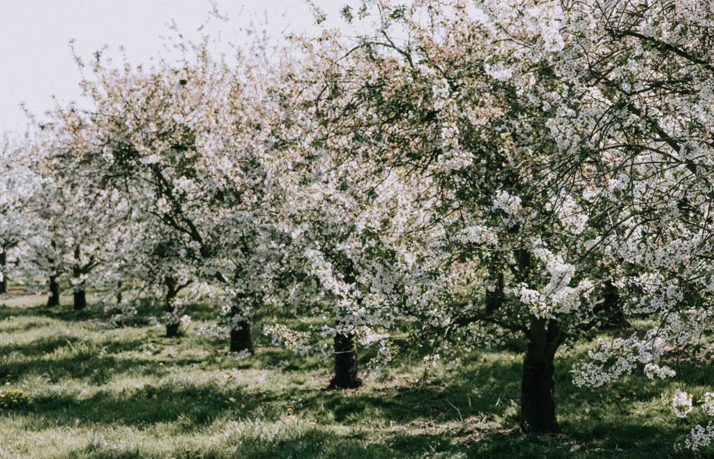
[[[555,420],[553,358],[560,331],[556,321],[532,317],[528,337],[521,382],[521,428],[532,433],[557,433],[560,428]]]

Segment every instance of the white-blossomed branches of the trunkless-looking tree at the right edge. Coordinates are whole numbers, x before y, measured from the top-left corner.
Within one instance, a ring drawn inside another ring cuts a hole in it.
[[[590,257],[613,267],[628,314],[653,318],[648,330],[600,344],[575,367],[575,381],[599,386],[638,367],[673,376],[668,354],[700,348],[712,330],[712,5],[503,6],[491,14],[510,24],[516,61],[501,65],[513,76],[540,74],[524,96],[553,109],[557,163],[585,181],[580,205],[602,222],[587,242]],[[691,403],[676,394],[675,414]],[[688,444],[708,445],[713,432],[712,423],[699,426]]]

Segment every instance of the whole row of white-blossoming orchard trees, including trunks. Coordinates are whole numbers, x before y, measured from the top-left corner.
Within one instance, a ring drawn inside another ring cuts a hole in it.
[[[553,359],[590,331],[573,368],[602,386],[714,327],[714,4],[710,1],[367,0],[278,51],[184,61],[78,58],[91,109],[58,106],[0,169],[0,264],[9,276],[216,307],[206,334],[253,352],[265,305],[304,319],[271,334],[298,352],[331,337],[335,387],[358,346],[388,363],[393,336],[457,361],[526,339],[521,420],[558,430]],[[322,19],[318,17],[318,21]],[[13,272],[24,270],[24,274]],[[137,289],[133,289],[132,292]],[[179,295],[179,292],[184,292]],[[131,295],[129,295],[131,296]],[[321,319],[319,325],[316,318]],[[306,331],[309,330],[309,331]],[[714,415],[678,392],[675,414]],[[693,430],[697,449],[714,424]]]

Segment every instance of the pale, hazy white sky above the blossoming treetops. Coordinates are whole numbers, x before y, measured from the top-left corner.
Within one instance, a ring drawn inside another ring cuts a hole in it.
[[[345,3],[316,1],[328,23],[339,21]],[[244,31],[251,24],[275,40],[288,31],[315,30],[313,14],[301,0],[214,4],[228,21],[211,14],[209,0],[0,0],[0,132],[25,130],[28,120],[20,103],[41,118],[54,106],[52,96],[62,105],[81,102],[81,73],[70,40],[84,61],[106,46],[104,54],[121,63],[119,47],[124,46],[131,64],[150,65],[151,58],[166,55],[165,38],[176,36],[172,22],[185,38],[198,41],[208,33],[238,46],[246,42]]]

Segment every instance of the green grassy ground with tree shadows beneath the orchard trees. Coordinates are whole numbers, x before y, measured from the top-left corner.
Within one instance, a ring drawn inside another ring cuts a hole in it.
[[[505,351],[421,385],[421,359],[406,357],[360,390],[326,391],[328,358],[256,336],[256,356],[231,361],[220,340],[102,331],[101,311],[45,301],[0,296],[0,389],[29,395],[0,413],[0,458],[692,457],[676,446],[691,426],[671,413],[674,382],[576,388],[568,369],[583,349],[558,357],[563,434],[535,437],[518,432],[521,356]],[[688,371],[689,387],[706,371]]]

